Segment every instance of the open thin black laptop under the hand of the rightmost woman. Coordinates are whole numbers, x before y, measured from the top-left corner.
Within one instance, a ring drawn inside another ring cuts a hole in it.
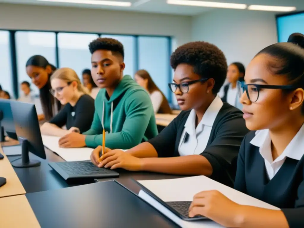
[[[119,185],[123,186],[139,198],[147,201],[147,196],[151,199],[157,201],[162,206],[167,208],[169,211],[171,211],[174,215],[178,216],[180,219],[183,219],[185,221],[199,221],[199,220],[209,220],[208,218],[204,216],[195,216],[195,217],[189,217],[189,207],[192,203],[192,201],[174,201],[174,202],[164,202],[162,199],[160,199],[157,195],[155,195],[153,192],[151,192],[149,189],[144,187],[142,184],[140,184],[138,181],[130,178],[128,180],[114,180]],[[153,206],[153,205],[151,205]]]

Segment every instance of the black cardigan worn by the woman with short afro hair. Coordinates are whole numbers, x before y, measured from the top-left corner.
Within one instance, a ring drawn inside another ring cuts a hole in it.
[[[179,156],[178,146],[189,113],[182,111],[159,135],[148,141],[158,157]],[[225,102],[214,120],[206,149],[201,153],[212,165],[210,178],[228,186],[233,186],[236,171],[233,163],[236,164],[241,142],[248,133],[242,115],[243,112]]]

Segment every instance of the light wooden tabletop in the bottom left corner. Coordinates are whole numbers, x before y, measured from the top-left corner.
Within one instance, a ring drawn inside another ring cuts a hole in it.
[[[1,227],[41,227],[25,195],[0,198],[0,205]]]

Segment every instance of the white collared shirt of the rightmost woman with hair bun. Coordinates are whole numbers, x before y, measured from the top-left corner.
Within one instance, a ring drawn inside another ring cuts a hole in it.
[[[304,155],[304,124],[275,161],[272,158],[271,138],[268,129],[257,131],[250,143],[256,147],[260,147],[259,151],[264,158],[268,178],[271,180],[284,164],[286,157],[299,161]]]

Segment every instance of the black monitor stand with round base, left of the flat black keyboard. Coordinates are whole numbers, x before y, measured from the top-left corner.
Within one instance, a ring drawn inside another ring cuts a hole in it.
[[[12,162],[12,166],[16,168],[29,168],[40,166],[40,161],[29,160],[29,141],[19,137],[21,143],[21,161],[18,159]]]

